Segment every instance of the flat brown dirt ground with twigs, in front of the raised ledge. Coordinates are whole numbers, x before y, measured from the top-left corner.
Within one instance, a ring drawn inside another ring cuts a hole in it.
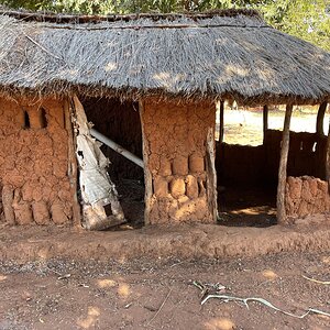
[[[254,258],[48,260],[0,266],[0,329],[329,329],[330,317],[298,319],[258,302],[210,299],[194,280],[228,295],[261,297],[300,315],[330,311],[330,252]]]

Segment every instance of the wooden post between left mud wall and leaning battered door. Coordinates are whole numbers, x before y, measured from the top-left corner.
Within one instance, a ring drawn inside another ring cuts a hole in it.
[[[73,123],[72,123],[72,108],[69,100],[66,98],[64,101],[64,118],[65,118],[65,129],[68,134],[68,169],[67,175],[69,177],[72,187],[72,198],[73,198],[73,217],[74,224],[81,226],[81,210],[77,196],[77,185],[78,185],[78,166],[76,158],[76,136],[74,135]]]

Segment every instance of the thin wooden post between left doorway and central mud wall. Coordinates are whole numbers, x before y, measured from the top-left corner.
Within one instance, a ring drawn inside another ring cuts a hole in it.
[[[144,133],[144,103],[143,100],[139,100],[139,112],[140,112],[140,120],[141,120],[141,130],[142,130],[142,153],[143,153],[143,162],[144,162],[144,186],[145,186],[145,195],[144,195],[144,224],[150,224],[150,212],[151,212],[151,200],[153,196],[153,179],[152,174],[148,169],[148,143],[145,139]]]

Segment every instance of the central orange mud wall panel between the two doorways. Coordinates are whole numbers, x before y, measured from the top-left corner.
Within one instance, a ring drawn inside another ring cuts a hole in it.
[[[146,223],[216,220],[215,196],[208,194],[215,174],[207,162],[207,135],[211,132],[213,147],[215,120],[213,103],[144,100],[143,139],[152,180]]]

